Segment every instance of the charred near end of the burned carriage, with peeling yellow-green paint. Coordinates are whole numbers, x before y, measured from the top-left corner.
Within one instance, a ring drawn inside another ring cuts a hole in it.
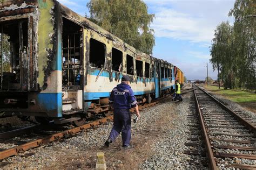
[[[62,116],[58,11],[51,0],[0,2],[0,112],[4,115]]]

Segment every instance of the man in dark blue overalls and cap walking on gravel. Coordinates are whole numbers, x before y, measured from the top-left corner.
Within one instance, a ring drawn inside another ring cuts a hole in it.
[[[130,84],[130,78],[127,75],[122,77],[122,83],[113,88],[109,98],[109,103],[114,109],[114,123],[109,138],[105,142],[105,146],[109,147],[120,132],[122,132],[122,140],[124,148],[131,148],[131,107],[134,107],[136,114],[139,115],[138,102],[133,94]]]

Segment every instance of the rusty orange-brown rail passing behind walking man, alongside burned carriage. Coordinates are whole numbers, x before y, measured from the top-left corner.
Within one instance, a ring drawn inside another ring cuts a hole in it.
[[[139,109],[147,108],[147,107],[150,107],[151,105],[156,105],[157,103],[164,102],[164,101],[168,100],[169,98],[171,98],[171,95],[164,96],[164,98],[160,98],[159,100],[154,101],[150,104],[141,105],[141,106],[139,106]],[[131,109],[130,111],[134,112],[135,110]],[[54,134],[51,134],[47,137],[37,139],[37,140],[33,140],[33,141],[30,141],[28,143],[25,143],[25,144],[22,144],[22,145],[19,145],[19,146],[16,146],[16,147],[12,147],[10,149],[6,149],[6,150],[0,152],[0,160],[2,160],[4,158],[11,157],[12,155],[17,155],[20,152],[30,150],[31,148],[35,148],[35,147],[50,143],[52,141],[59,140],[60,138],[68,138],[68,137],[72,136],[75,133],[81,132],[81,131],[86,130],[86,129],[93,128],[97,125],[103,124],[105,122],[109,122],[111,120],[113,120],[113,116],[104,117],[104,118],[98,119],[97,121],[93,121],[93,122],[90,122],[88,124],[84,124],[82,126],[78,126],[76,128],[73,128],[73,129],[69,129],[69,130],[65,130],[65,131],[62,131],[62,132],[54,133]]]

